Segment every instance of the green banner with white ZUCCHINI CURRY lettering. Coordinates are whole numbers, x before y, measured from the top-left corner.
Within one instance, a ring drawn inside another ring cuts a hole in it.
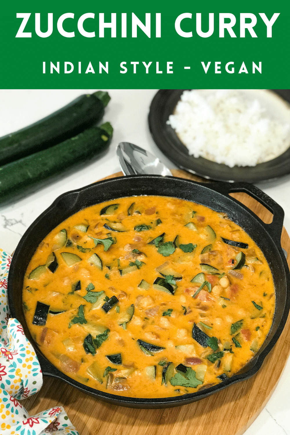
[[[2,88],[289,88],[290,2],[3,2]]]

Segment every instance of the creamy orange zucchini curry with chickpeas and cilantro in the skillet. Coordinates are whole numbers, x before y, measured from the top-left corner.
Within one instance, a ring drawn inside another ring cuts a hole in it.
[[[275,311],[258,246],[226,214],[172,197],[97,204],[50,232],[23,283],[43,355],[108,393],[161,398],[226,380]]]

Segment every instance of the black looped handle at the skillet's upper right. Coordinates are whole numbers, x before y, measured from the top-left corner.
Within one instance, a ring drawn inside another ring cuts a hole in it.
[[[263,221],[261,221],[261,223],[270,233],[274,241],[276,241],[278,246],[281,245],[284,210],[279,204],[277,204],[276,201],[274,201],[272,198],[270,198],[270,196],[258,189],[258,187],[250,183],[215,183],[214,186],[213,184],[211,186],[214,188],[214,190],[226,195],[235,192],[247,193],[252,198],[260,202],[260,204],[262,204],[264,207],[266,207],[267,210],[269,210],[273,214],[273,221],[270,224],[265,224]]]

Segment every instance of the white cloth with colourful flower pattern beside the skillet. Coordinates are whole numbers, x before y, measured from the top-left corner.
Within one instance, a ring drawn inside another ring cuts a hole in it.
[[[40,390],[42,373],[22,326],[10,318],[10,261],[11,257],[0,249],[0,435],[78,435],[62,407],[29,416],[19,402]]]

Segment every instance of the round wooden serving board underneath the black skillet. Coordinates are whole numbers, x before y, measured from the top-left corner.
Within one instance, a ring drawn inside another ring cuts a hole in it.
[[[185,171],[172,170],[172,173],[176,177],[206,181]],[[119,172],[106,178],[121,175]],[[233,196],[264,222],[272,220],[271,213],[252,197],[244,193]],[[285,228],[281,243],[289,252],[290,238]],[[123,408],[101,402],[50,377],[44,377],[40,392],[22,403],[30,415],[62,405],[80,435],[211,435],[213,428],[216,434],[241,435],[260,414],[279,381],[290,352],[289,336],[290,317],[256,375],[190,405],[167,409]]]

